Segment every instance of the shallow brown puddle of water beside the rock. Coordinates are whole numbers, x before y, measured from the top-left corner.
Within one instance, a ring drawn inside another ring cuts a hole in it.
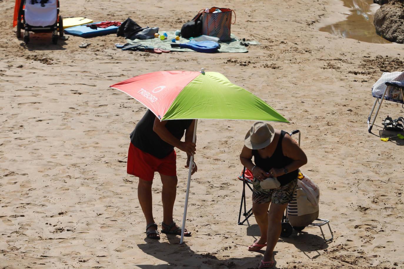
[[[321,27],[320,31],[368,43],[391,43],[377,35],[373,25],[379,4],[374,4],[373,0],[342,0],[342,2],[350,9],[345,21]]]

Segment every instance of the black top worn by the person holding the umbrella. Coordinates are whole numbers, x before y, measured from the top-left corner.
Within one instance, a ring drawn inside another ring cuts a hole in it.
[[[143,118],[137,123],[132,133],[130,133],[130,142],[140,150],[162,159],[173,152],[174,146],[162,140],[153,131],[154,119],[156,119],[156,115],[147,109]],[[191,119],[169,120],[166,123],[166,128],[173,136],[181,140],[185,130],[191,123]]]

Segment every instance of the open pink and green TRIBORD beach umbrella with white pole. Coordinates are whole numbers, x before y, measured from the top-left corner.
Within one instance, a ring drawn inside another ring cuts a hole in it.
[[[159,71],[139,75],[109,86],[135,98],[160,121],[171,119],[242,119],[288,121],[263,100],[217,72]],[[194,156],[191,156],[190,164]],[[189,165],[181,234],[183,242],[192,165]]]

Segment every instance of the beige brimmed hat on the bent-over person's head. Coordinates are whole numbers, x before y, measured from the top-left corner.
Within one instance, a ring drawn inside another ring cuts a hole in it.
[[[244,145],[252,150],[265,148],[274,139],[275,129],[272,125],[263,121],[257,121],[247,132],[244,138]]]

